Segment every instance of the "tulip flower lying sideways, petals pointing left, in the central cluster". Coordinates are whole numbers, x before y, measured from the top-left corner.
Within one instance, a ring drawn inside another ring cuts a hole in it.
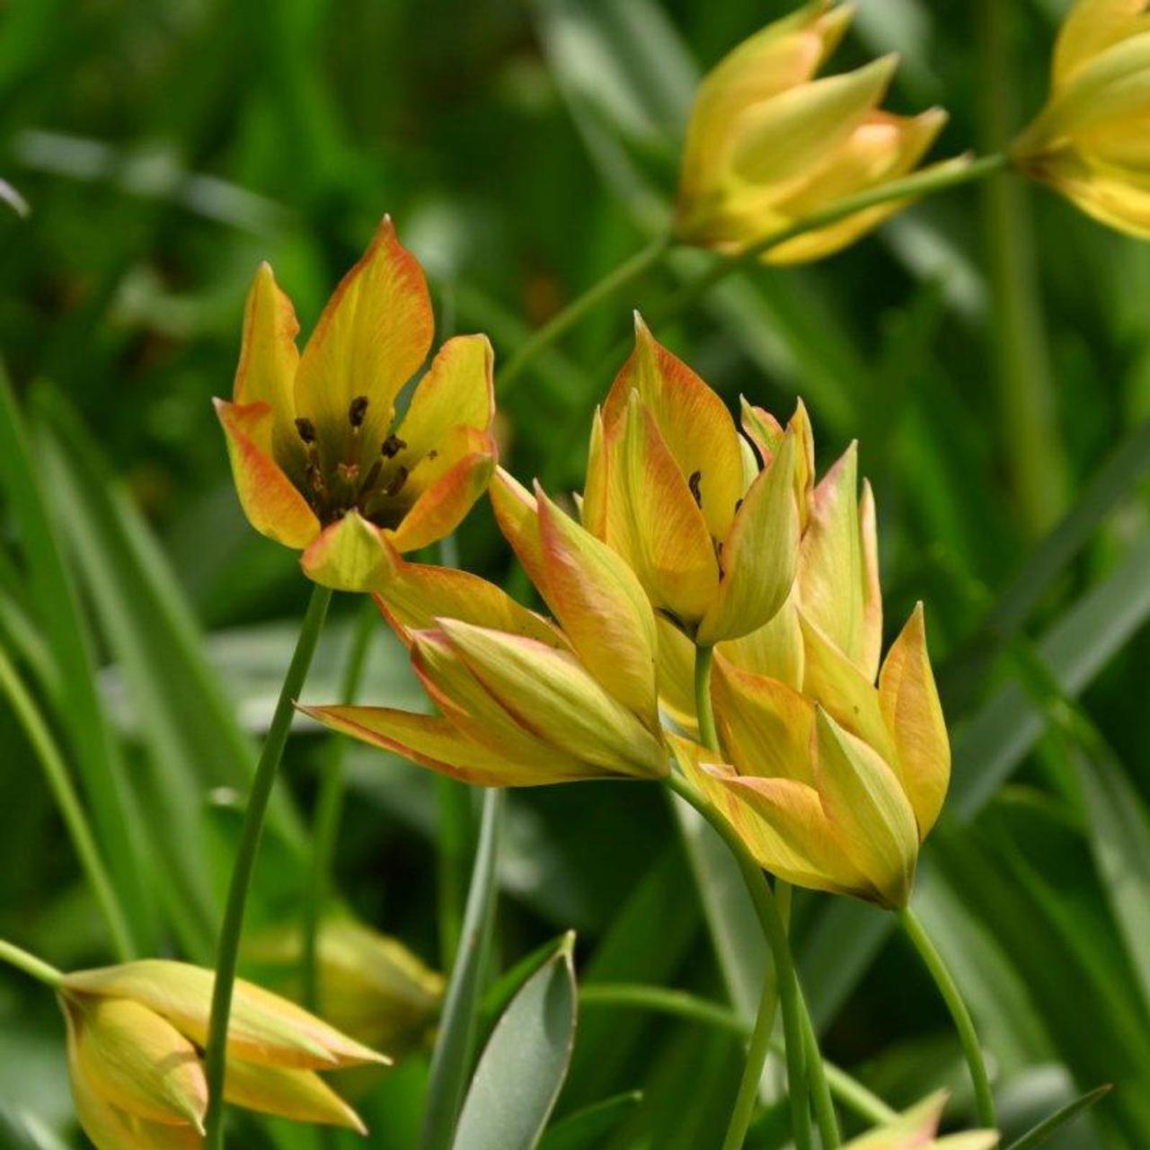
[[[526,497],[526,493],[524,493]],[[362,742],[465,782],[531,787],[667,774],[654,619],[634,575],[542,496],[519,545],[535,550],[560,630],[466,572],[385,549],[379,603],[440,715],[305,706]],[[528,542],[529,540],[529,542]],[[370,540],[368,540],[370,543]]]

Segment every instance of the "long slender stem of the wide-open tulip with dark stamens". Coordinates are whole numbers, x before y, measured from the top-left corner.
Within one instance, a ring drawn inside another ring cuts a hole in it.
[[[323,629],[323,620],[331,603],[331,591],[316,585],[307,605],[307,614],[300,628],[296,652],[279,690],[271,726],[263,743],[255,777],[252,780],[252,791],[247,799],[247,813],[244,816],[244,828],[240,833],[239,849],[231,872],[231,883],[228,888],[228,904],[224,910],[223,926],[220,929],[220,943],[216,952],[215,984],[212,989],[212,1018],[208,1022],[208,1040],[205,1049],[205,1071],[208,1084],[208,1112],[204,1119],[205,1150],[223,1150],[223,1083],[227,1072],[228,1018],[231,1014],[231,995],[236,984],[236,966],[239,961],[239,937],[244,929],[244,911],[247,906],[247,891],[252,883],[252,871],[255,867],[255,856],[260,849],[260,837],[263,833],[263,821],[271,799],[279,760],[283,758],[291,720],[294,714],[294,700],[304,687],[312,657],[315,654]]]

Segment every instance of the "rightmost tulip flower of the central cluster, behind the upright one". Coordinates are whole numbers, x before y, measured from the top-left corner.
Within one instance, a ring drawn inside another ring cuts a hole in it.
[[[744,423],[765,454],[782,442],[764,412],[744,407]],[[790,434],[804,444],[805,491],[813,451],[802,407]],[[798,576],[784,610],[716,650],[712,702],[723,761],[685,739],[675,744],[677,758],[766,869],[904,906],[950,780],[922,608],[880,670],[874,503],[867,486],[858,494],[853,446],[800,504]],[[683,674],[676,642],[662,632],[667,678]],[[677,695],[685,692],[681,685]]]

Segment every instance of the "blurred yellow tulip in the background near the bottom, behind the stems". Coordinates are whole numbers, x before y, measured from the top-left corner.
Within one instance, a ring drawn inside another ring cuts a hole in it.
[[[244,948],[261,981],[294,997],[304,940],[298,927],[258,935]],[[344,1034],[398,1058],[422,1045],[443,1002],[443,975],[397,938],[340,915],[324,920],[316,940],[317,1000]]]

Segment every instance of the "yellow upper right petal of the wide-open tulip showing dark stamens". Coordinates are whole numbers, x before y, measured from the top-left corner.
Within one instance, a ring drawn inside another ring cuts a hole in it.
[[[450,428],[486,431],[496,413],[494,352],[486,336],[455,336],[436,353],[420,379],[397,432],[397,461],[436,451]]]

